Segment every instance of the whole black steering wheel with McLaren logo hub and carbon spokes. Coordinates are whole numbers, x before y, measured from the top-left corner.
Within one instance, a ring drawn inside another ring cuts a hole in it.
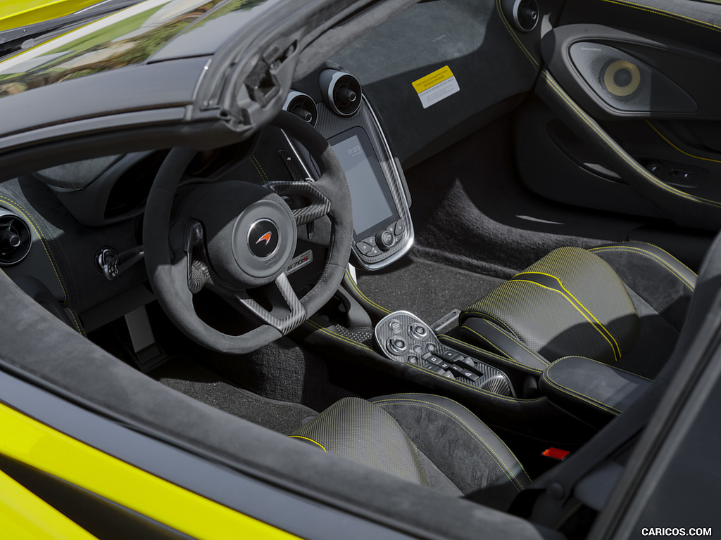
[[[208,184],[173,212],[180,178],[196,153],[180,147],[162,164],[146,204],[145,264],[159,304],[187,336],[227,354],[255,351],[298,328],[330,300],[350,256],[350,193],[338,158],[322,135],[294,114],[281,112],[273,125],[309,151],[321,170],[318,181]],[[310,204],[291,210],[280,194],[298,194]],[[296,249],[296,226],[324,215],[332,225],[324,269],[314,287],[298,298],[285,273]],[[257,328],[231,336],[205,323],[193,307],[193,295],[203,287],[252,313]],[[270,309],[248,294],[258,288],[264,289]]]

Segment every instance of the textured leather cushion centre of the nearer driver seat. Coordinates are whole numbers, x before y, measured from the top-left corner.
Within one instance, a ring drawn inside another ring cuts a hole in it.
[[[291,433],[319,449],[415,484],[428,478],[415,444],[383,409],[345,397]]]

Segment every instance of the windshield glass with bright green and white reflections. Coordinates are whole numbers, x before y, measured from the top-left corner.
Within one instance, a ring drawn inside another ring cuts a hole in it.
[[[0,62],[0,97],[142,63],[224,0],[148,0]],[[231,0],[223,12],[258,0]]]

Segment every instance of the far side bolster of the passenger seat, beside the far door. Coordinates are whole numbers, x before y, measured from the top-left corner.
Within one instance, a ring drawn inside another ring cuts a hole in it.
[[[670,253],[644,242],[606,244],[588,251],[606,261],[629,289],[681,330],[696,289],[694,271]]]

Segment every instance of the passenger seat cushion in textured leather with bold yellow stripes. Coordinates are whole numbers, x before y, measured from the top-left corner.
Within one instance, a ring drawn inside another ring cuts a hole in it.
[[[619,276],[580,248],[558,248],[461,313],[513,333],[545,359],[583,354],[618,361],[640,325]]]

